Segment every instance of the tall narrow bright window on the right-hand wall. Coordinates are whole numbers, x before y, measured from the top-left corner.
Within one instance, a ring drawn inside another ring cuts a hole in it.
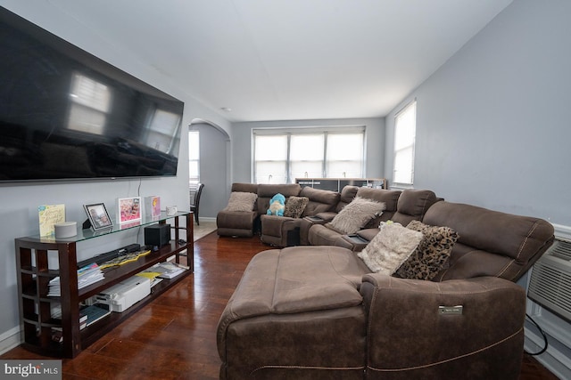
[[[417,102],[413,101],[394,117],[394,183],[413,183],[416,129]]]

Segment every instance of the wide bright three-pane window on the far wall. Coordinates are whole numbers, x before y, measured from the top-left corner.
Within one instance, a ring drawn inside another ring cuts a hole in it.
[[[253,182],[363,177],[365,127],[253,130]]]

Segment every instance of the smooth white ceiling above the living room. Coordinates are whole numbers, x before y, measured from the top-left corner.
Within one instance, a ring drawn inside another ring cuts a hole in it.
[[[228,120],[260,121],[384,117],[512,0],[48,1]]]

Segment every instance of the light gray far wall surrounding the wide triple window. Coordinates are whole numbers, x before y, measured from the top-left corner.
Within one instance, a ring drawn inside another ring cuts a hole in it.
[[[260,121],[232,124],[232,182],[252,181],[252,129],[317,126],[366,126],[365,175],[384,178],[385,118],[352,118],[329,120]]]

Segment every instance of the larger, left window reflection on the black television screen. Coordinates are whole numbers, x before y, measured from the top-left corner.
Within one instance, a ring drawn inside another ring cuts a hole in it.
[[[103,134],[107,114],[111,109],[111,96],[108,86],[75,73],[71,78],[68,128],[80,132]]]

